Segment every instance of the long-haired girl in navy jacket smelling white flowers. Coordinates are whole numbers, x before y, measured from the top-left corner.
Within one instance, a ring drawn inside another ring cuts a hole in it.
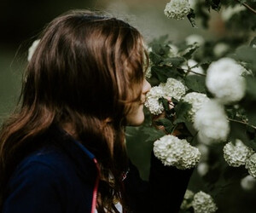
[[[122,20],[73,11],[49,23],[1,130],[4,213],[179,210],[191,170],[152,156],[146,182],[125,150],[125,125],[143,123],[147,63]]]

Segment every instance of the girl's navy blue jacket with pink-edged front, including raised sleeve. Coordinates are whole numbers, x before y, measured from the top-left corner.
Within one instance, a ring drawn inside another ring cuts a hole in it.
[[[18,164],[7,186],[4,213],[95,211],[94,155],[60,130],[50,140]],[[166,167],[152,155],[149,181],[143,181],[130,164],[124,184],[131,212],[178,212],[191,174]]]

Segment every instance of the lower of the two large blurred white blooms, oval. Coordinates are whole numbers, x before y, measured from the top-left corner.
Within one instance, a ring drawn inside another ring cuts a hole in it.
[[[199,131],[199,140],[207,145],[212,142],[226,141],[230,132],[224,107],[214,100],[205,102],[201,109],[195,112],[194,127]]]

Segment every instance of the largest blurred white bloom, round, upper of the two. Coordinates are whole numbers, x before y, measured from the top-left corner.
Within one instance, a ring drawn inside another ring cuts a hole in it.
[[[240,101],[246,92],[246,82],[241,77],[243,70],[230,58],[212,62],[207,70],[207,88],[224,104]]]

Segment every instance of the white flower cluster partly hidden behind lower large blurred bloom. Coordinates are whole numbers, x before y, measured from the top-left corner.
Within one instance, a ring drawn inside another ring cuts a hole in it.
[[[205,94],[191,92],[183,97],[183,101],[191,104],[192,108],[189,110],[189,118],[194,122],[195,112],[201,109],[203,103],[210,101],[210,99]]]

